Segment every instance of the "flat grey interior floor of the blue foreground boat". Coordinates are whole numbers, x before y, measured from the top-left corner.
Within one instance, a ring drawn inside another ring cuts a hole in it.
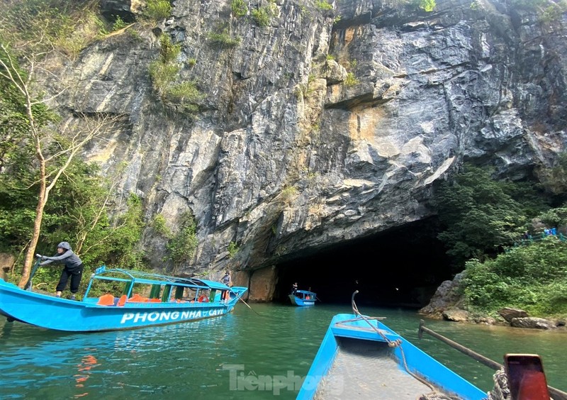
[[[340,338],[337,357],[316,400],[415,400],[432,389],[400,369],[386,343]]]

